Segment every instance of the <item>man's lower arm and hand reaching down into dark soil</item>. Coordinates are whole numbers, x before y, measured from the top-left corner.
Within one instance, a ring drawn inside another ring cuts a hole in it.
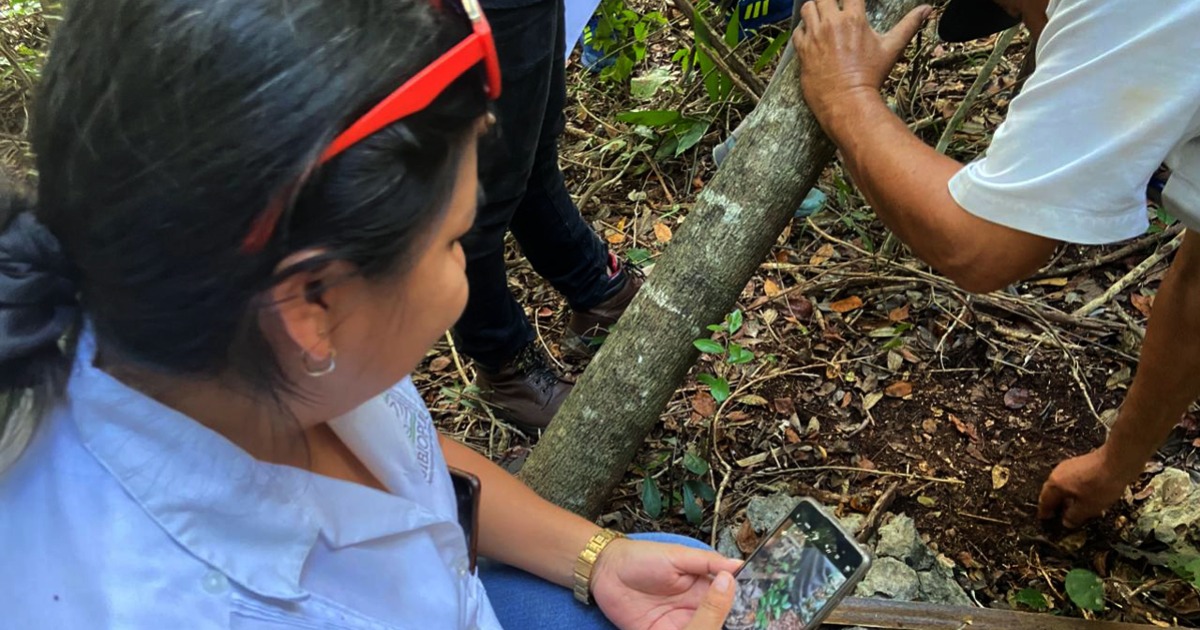
[[[1042,487],[1038,516],[1079,527],[1112,505],[1200,397],[1200,236],[1188,232],[1154,298],[1138,376],[1099,449],[1067,460]]]

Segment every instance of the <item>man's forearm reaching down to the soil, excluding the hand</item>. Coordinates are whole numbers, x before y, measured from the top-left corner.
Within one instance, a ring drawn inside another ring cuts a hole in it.
[[[1187,233],[1154,298],[1138,374],[1102,449],[1127,480],[1200,396],[1200,236]]]

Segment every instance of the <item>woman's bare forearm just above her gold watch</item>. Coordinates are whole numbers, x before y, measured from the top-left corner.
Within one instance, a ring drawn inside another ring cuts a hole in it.
[[[539,497],[470,448],[440,437],[446,463],[479,478],[479,552],[570,588],[575,559],[599,527]]]

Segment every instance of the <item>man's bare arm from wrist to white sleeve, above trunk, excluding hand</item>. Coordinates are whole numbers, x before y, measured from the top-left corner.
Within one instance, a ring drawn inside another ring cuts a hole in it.
[[[916,137],[877,94],[839,102],[822,125],[876,215],[922,260],[964,288],[988,292],[1042,266],[1055,242],[979,218],[950,196],[961,168]]]

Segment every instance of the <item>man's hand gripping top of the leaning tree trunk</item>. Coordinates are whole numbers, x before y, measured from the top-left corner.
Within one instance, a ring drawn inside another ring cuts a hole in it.
[[[800,59],[804,100],[817,120],[826,125],[838,103],[857,95],[878,98],[883,79],[931,11],[919,6],[881,35],[866,22],[864,0],[842,0],[842,6],[838,0],[804,2],[804,22],[792,43]]]

